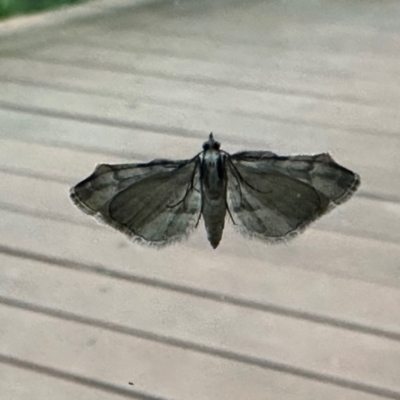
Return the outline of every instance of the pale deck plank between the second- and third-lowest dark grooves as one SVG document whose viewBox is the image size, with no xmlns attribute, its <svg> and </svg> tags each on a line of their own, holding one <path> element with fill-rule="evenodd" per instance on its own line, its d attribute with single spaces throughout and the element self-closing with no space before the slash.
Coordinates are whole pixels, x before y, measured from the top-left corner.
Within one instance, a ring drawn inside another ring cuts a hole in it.
<svg viewBox="0 0 400 400">
<path fill-rule="evenodd" d="M 188 342 L 189 349 L 190 343 L 196 343 L 400 390 L 400 341 L 110 280 L 107 276 L 51 268 L 37 262 L 17 267 L 20 260 L 7 257 L 4 261 L 7 265 L 2 277 L 9 289 L 3 296 L 171 337 Z M 24 290 L 19 292 L 16 288 Z M 391 306 L 394 308 L 395 304 Z M 376 370 L 381 373 L 377 375 Z"/>
</svg>

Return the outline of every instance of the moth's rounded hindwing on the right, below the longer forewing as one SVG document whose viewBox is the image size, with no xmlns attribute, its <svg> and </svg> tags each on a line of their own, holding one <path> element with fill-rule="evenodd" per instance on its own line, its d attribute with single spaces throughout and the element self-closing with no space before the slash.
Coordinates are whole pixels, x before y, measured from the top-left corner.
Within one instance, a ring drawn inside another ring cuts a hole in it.
<svg viewBox="0 0 400 400">
<path fill-rule="evenodd" d="M 229 163 L 228 181 L 236 228 L 265 241 L 291 238 L 329 206 L 329 199 L 312 186 L 234 158 Z"/>
</svg>

